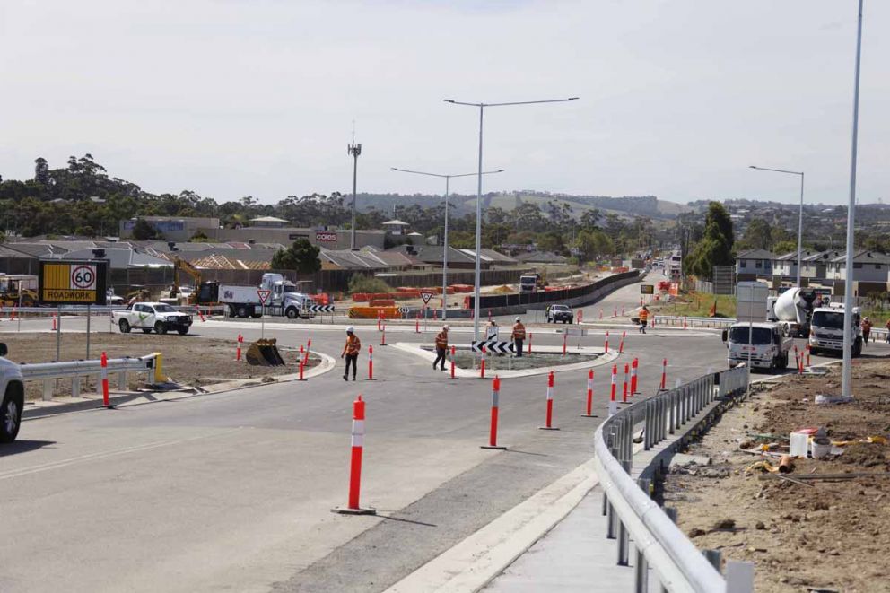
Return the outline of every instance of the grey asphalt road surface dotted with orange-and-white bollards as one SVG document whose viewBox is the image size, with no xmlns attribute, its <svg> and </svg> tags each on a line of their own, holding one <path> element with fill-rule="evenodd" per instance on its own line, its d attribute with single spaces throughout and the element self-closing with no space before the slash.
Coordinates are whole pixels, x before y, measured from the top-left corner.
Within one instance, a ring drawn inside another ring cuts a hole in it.
<svg viewBox="0 0 890 593">
<path fill-rule="evenodd" d="M 585 308 L 585 317 L 638 301 L 634 284 Z M 31 324 L 38 327 L 22 327 Z M 81 324 L 65 320 L 65 331 Z M 14 328 L 4 323 L 0 332 Z M 430 343 L 430 329 L 418 335 L 414 327 L 390 327 L 387 339 Z M 284 345 L 311 337 L 313 350 L 340 362 L 341 327 L 266 323 L 265 331 Z M 552 326 L 531 331 L 535 344 L 562 344 Z M 259 327 L 198 322 L 183 339 L 239 332 L 255 339 Z M 580 342 L 599 345 L 604 332 L 590 328 Z M 376 327 L 358 333 L 366 346 L 380 343 Z M 131 336 L 135 353 L 150 347 L 152 336 Z M 469 339 L 468 327 L 455 327 L 452 342 Z M 664 357 L 669 383 L 725 367 L 713 331 L 631 330 L 625 351 L 619 362 L 640 358 L 644 394 L 658 387 Z M 366 365 L 362 353 L 360 379 Z M 0 589 L 385 589 L 587 461 L 609 384 L 606 367 L 598 367 L 598 418 L 582 418 L 586 372 L 558 373 L 555 424 L 562 430 L 545 432 L 537 430 L 545 376 L 504 379 L 500 440 L 510 449 L 491 451 L 479 448 L 487 440 L 490 381 L 450 381 L 413 354 L 380 345 L 379 380 L 347 383 L 341 368 L 305 383 L 24 423 L 20 440 L 0 448 Z M 367 401 L 362 504 L 378 509 L 377 517 L 330 512 L 345 504 L 359 393 Z"/>
</svg>

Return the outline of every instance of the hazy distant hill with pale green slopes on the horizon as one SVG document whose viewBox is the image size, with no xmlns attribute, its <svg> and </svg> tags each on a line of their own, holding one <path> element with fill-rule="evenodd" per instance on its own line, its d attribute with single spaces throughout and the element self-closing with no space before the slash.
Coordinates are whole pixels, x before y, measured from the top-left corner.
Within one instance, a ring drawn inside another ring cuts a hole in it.
<svg viewBox="0 0 890 593">
<path fill-rule="evenodd" d="M 430 207 L 441 202 L 441 196 L 429 194 L 359 194 L 358 198 L 357 207 L 362 212 L 375 209 L 387 214 L 393 214 L 394 207 L 414 204 Z M 598 208 L 602 214 L 615 213 L 624 218 L 648 216 L 652 219 L 667 220 L 692 210 L 687 205 L 659 200 L 656 196 L 572 196 L 525 190 L 489 193 L 483 196 L 483 200 L 484 207 L 494 206 L 508 212 L 523 202 L 536 204 L 542 210 L 546 210 L 547 202 L 565 203 L 572 207 L 575 217 L 580 217 L 586 210 Z M 476 195 L 451 194 L 449 202 L 456 211 L 455 215 L 476 212 Z"/>
</svg>

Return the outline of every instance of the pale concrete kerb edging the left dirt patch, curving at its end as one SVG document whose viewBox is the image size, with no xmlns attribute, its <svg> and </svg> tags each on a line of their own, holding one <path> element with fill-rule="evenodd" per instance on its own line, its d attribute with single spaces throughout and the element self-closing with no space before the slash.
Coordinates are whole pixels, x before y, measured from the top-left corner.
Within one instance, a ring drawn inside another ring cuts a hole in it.
<svg viewBox="0 0 890 593">
<path fill-rule="evenodd" d="M 336 368 L 336 361 L 333 357 L 318 352 L 314 354 L 317 354 L 318 357 L 321 358 L 321 362 L 317 366 L 303 371 L 304 379 L 318 377 L 328 371 L 333 371 Z M 171 391 L 120 393 L 119 395 L 110 397 L 110 402 L 118 408 L 143 406 L 144 404 L 155 404 L 158 402 L 177 401 L 191 397 L 228 393 L 231 391 L 239 391 L 240 389 L 262 387 L 263 385 L 288 383 L 298 381 L 299 379 L 299 373 L 280 375 L 275 377 L 273 383 L 263 383 L 261 379 L 233 379 L 223 383 L 216 383 L 212 386 L 207 386 L 206 388 L 181 388 Z M 102 398 L 100 395 L 97 395 L 96 397 L 84 397 L 74 402 L 55 402 L 49 403 L 48 406 L 43 405 L 38 407 L 28 407 L 28 402 L 26 402 L 26 407 L 22 411 L 22 420 L 37 420 L 39 418 L 56 416 L 59 414 L 72 414 L 74 412 L 83 412 L 86 410 L 104 409 L 104 406 L 101 406 L 101 402 Z"/>
</svg>

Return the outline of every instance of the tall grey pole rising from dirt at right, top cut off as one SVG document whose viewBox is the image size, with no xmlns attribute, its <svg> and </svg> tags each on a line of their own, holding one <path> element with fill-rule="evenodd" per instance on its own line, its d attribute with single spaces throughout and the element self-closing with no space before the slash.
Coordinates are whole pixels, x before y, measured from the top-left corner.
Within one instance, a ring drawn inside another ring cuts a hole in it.
<svg viewBox="0 0 890 593">
<path fill-rule="evenodd" d="M 856 29 L 856 68 L 853 74 L 853 138 L 850 148 L 850 201 L 847 203 L 847 274 L 843 282 L 843 369 L 841 395 L 851 397 L 853 358 L 853 226 L 856 224 L 856 152 L 859 144 L 859 63 L 862 57 L 862 0 Z"/>
</svg>

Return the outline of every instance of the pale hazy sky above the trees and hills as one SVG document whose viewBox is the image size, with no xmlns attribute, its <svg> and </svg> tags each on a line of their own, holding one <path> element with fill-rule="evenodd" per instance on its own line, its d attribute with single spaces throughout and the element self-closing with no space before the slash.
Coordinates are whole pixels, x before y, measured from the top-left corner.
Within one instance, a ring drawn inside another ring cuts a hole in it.
<svg viewBox="0 0 890 593">
<path fill-rule="evenodd" d="M 439 192 L 401 167 L 476 169 L 485 190 L 842 203 L 854 0 L 0 4 L 0 174 L 92 153 L 153 192 L 218 200 L 351 187 Z M 890 199 L 890 3 L 866 2 L 859 201 Z M 473 179 L 455 191 L 475 190 Z"/>
</svg>

